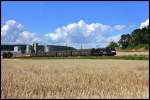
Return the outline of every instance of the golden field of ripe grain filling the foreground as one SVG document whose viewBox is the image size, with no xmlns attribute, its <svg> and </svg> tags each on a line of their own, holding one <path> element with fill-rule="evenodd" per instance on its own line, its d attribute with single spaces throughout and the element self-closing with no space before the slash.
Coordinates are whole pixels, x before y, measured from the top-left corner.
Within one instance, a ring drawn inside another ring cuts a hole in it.
<svg viewBox="0 0 150 100">
<path fill-rule="evenodd" d="M 148 98 L 148 60 L 1 60 L 1 98 Z"/>
</svg>

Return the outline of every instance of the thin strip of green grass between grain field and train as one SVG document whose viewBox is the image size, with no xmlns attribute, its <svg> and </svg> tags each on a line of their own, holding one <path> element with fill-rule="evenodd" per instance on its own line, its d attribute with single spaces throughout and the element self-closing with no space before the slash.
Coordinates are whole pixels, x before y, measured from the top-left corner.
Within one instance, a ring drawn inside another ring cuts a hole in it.
<svg viewBox="0 0 150 100">
<path fill-rule="evenodd" d="M 133 55 L 133 56 L 17 57 L 17 59 L 123 59 L 123 60 L 148 60 L 149 57 L 148 56 L 143 56 L 143 55 Z"/>
</svg>

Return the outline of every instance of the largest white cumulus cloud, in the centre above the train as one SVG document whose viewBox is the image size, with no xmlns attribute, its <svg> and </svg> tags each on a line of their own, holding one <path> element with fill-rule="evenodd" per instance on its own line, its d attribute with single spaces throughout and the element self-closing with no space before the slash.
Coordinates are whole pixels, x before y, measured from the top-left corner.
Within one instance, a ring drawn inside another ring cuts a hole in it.
<svg viewBox="0 0 150 100">
<path fill-rule="evenodd" d="M 121 31 L 125 28 L 125 25 L 105 25 L 101 23 L 86 23 L 80 20 L 77 23 L 68 24 L 57 28 L 54 32 L 45 34 L 47 41 L 70 44 L 85 44 L 95 45 L 95 43 L 108 44 L 110 41 L 118 41 L 120 35 L 111 36 L 112 31 Z"/>
</svg>

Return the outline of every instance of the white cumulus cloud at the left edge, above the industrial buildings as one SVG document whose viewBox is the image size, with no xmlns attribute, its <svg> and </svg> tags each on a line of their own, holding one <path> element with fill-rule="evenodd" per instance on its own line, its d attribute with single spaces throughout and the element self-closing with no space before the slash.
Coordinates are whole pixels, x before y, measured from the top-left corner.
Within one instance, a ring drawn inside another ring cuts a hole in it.
<svg viewBox="0 0 150 100">
<path fill-rule="evenodd" d="M 23 25 L 15 20 L 8 20 L 1 27 L 2 43 L 29 43 L 31 41 L 37 41 L 36 34 L 25 31 Z"/>
</svg>

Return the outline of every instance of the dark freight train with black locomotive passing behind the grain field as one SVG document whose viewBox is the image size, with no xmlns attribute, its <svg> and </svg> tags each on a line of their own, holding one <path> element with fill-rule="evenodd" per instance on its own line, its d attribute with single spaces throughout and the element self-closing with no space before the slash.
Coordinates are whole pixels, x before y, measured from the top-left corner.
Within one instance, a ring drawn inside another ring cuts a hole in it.
<svg viewBox="0 0 150 100">
<path fill-rule="evenodd" d="M 114 56 L 116 50 L 113 48 L 92 48 L 92 49 L 80 49 L 80 50 L 64 50 L 64 51 L 50 51 L 47 53 L 31 56 L 49 56 L 49 57 L 67 57 L 67 56 Z"/>
</svg>

